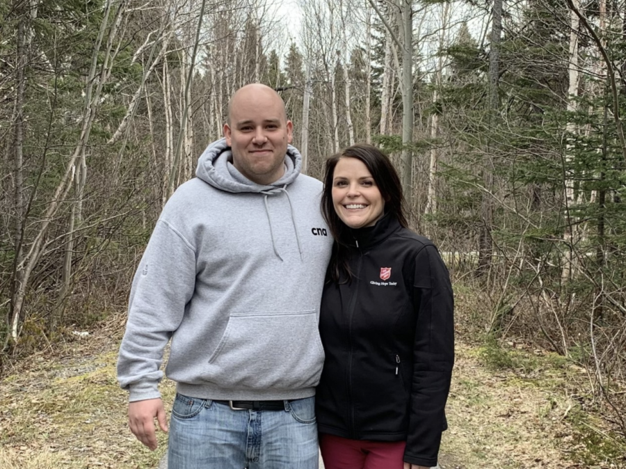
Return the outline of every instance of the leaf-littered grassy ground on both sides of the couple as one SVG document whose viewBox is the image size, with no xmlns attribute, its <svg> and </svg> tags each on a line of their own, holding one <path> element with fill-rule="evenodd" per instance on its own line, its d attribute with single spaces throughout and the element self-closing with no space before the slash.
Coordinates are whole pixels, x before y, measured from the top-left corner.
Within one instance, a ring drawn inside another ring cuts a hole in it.
<svg viewBox="0 0 626 469">
<path fill-rule="evenodd" d="M 166 435 L 156 452 L 135 440 L 115 381 L 123 321 L 8 369 L 0 380 L 0 468 L 157 468 Z M 626 441 L 590 404 L 585 370 L 504 347 L 458 342 L 441 468 L 625 469 Z M 161 390 L 169 405 L 172 383 Z"/>
</svg>

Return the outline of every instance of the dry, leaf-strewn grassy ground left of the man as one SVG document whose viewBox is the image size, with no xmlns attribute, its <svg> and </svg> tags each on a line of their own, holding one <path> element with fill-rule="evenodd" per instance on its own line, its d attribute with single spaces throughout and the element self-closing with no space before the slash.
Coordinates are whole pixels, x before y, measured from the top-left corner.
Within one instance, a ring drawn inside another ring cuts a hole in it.
<svg viewBox="0 0 626 469">
<path fill-rule="evenodd" d="M 115 337 L 121 337 L 115 333 Z M 67 344 L 58 356 L 35 356 L 0 381 L 0 468 L 148 469 L 150 452 L 127 427 L 127 393 L 115 379 L 118 342 L 110 336 Z M 161 385 L 166 406 L 174 386 Z"/>
</svg>

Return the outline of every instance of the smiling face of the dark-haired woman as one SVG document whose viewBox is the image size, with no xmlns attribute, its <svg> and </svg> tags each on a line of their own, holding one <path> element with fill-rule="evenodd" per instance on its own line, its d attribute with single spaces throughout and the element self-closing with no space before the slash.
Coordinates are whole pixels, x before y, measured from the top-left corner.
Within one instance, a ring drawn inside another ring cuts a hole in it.
<svg viewBox="0 0 626 469">
<path fill-rule="evenodd" d="M 374 177 L 360 159 L 342 157 L 332 174 L 332 205 L 350 228 L 373 226 L 385 212 Z"/>
</svg>

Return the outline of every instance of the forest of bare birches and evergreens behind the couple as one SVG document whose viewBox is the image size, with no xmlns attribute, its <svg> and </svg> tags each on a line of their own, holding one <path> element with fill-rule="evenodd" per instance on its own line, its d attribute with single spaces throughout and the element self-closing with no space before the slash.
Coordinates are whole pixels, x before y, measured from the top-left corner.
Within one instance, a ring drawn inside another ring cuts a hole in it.
<svg viewBox="0 0 626 469">
<path fill-rule="evenodd" d="M 389 153 L 460 334 L 584 367 L 580 399 L 626 437 L 624 0 L 0 0 L 0 373 L 125 309 L 255 81 L 305 173 Z"/>
</svg>

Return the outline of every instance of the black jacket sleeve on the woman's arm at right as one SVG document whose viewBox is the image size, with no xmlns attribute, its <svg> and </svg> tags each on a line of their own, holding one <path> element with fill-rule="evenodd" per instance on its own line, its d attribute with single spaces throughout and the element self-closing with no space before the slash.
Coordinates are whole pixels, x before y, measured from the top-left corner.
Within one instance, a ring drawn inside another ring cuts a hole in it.
<svg viewBox="0 0 626 469">
<path fill-rule="evenodd" d="M 454 296 L 437 248 L 426 245 L 415 259 L 417 315 L 409 429 L 404 461 L 436 466 L 454 365 Z"/>
</svg>

